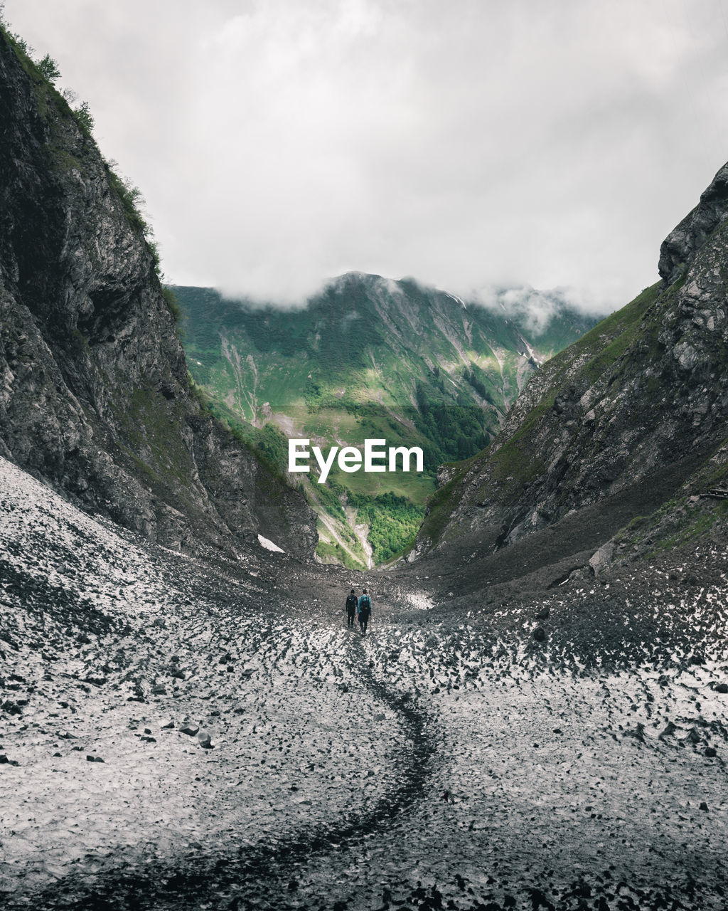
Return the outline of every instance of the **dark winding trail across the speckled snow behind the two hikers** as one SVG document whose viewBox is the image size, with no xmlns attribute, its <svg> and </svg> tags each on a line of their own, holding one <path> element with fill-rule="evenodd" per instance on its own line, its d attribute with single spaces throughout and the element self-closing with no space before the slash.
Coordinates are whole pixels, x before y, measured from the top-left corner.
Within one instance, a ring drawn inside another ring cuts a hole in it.
<svg viewBox="0 0 728 911">
<path fill-rule="evenodd" d="M 67 908 L 74 911 L 126 911 L 126 909 L 191 908 L 204 896 L 214 896 L 212 907 L 239 909 L 269 908 L 293 911 L 305 907 L 331 907 L 334 911 L 356 901 L 351 894 L 328 899 L 325 892 L 297 896 L 298 878 L 305 878 L 312 863 L 339 864 L 346 855 L 366 858 L 370 839 L 376 839 L 393 825 L 405 821 L 410 811 L 426 793 L 428 780 L 438 757 L 438 741 L 429 715 L 420 710 L 409 694 L 399 695 L 377 679 L 369 665 L 363 640 L 349 642 L 356 654 L 359 681 L 363 693 L 357 698 L 370 698 L 394 711 L 405 733 L 399 751 L 389 756 L 398 770 L 397 783 L 385 791 L 376 804 L 364 813 L 352 809 L 350 814 L 332 822 L 304 827 L 278 841 L 261 841 L 253 846 L 233 849 L 229 853 L 191 853 L 168 862 L 155 860 L 143 868 L 128 867 L 84 881 L 83 870 L 66 877 L 53 887 L 34 896 L 34 907 Z M 366 768 L 366 756 L 362 757 Z M 194 901 L 194 904 L 191 902 Z M 310 904 L 309 904 L 310 903 Z"/>
</svg>

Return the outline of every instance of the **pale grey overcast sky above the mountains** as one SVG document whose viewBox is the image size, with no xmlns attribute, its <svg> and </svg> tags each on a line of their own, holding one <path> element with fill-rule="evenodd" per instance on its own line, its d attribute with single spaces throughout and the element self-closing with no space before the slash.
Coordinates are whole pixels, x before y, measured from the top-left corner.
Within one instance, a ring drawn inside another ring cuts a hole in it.
<svg viewBox="0 0 728 911">
<path fill-rule="evenodd" d="M 728 159 L 728 0 L 6 0 L 142 190 L 168 281 L 343 271 L 602 310 Z"/>
</svg>

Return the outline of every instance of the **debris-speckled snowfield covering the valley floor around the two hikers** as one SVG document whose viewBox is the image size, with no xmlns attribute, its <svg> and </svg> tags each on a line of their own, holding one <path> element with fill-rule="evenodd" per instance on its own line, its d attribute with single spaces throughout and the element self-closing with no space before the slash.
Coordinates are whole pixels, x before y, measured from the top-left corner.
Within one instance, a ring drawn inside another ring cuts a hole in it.
<svg viewBox="0 0 728 911">
<path fill-rule="evenodd" d="M 0 905 L 728 905 L 719 548 L 467 615 L 370 573 L 366 638 L 363 581 L 0 459 Z"/>
</svg>

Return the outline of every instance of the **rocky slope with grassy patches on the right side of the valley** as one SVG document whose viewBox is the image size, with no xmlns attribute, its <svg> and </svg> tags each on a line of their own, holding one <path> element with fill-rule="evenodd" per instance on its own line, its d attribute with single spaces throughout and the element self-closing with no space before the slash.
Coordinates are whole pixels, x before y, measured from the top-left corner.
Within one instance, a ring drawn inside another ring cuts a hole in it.
<svg viewBox="0 0 728 911">
<path fill-rule="evenodd" d="M 450 472 L 415 554 L 492 554 L 565 520 L 564 558 L 632 520 L 612 542 L 626 557 L 724 524 L 711 492 L 728 472 L 727 181 L 728 165 L 663 242 L 662 281 L 546 363 L 500 435 Z"/>
</svg>

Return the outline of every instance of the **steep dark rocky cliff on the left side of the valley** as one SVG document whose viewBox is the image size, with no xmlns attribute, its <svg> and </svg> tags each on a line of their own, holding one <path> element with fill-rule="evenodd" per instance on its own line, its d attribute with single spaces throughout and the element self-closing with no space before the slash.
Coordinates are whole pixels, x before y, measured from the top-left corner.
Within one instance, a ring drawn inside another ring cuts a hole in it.
<svg viewBox="0 0 728 911">
<path fill-rule="evenodd" d="M 315 518 L 189 393 L 154 256 L 66 102 L 0 34 L 0 455 L 172 548 Z"/>
</svg>

